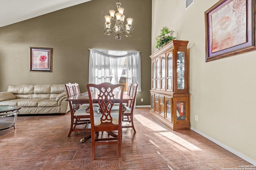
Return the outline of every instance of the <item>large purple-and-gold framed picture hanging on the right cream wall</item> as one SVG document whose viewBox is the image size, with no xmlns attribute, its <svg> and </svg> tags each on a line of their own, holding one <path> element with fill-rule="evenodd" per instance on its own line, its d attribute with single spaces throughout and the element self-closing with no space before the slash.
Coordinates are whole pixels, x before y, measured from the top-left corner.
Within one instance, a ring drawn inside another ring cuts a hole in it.
<svg viewBox="0 0 256 170">
<path fill-rule="evenodd" d="M 206 62 L 256 50 L 255 0 L 220 0 L 206 12 Z"/>
</svg>

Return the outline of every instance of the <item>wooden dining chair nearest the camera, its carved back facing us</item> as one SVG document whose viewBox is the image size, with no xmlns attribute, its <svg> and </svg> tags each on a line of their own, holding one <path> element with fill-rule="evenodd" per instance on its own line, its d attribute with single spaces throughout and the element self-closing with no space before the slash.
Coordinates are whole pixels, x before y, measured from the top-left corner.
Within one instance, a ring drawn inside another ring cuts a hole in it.
<svg viewBox="0 0 256 170">
<path fill-rule="evenodd" d="M 121 156 L 121 140 L 122 140 L 122 104 L 124 94 L 124 84 L 111 84 L 104 82 L 101 84 L 87 84 L 86 85 L 89 94 L 90 104 L 90 120 L 91 120 L 91 135 L 92 135 L 92 160 L 95 158 L 95 146 L 97 145 L 108 145 L 118 144 L 118 157 Z M 114 89 L 121 88 L 120 98 L 116 98 Z M 100 106 L 100 114 L 95 114 L 92 111 L 93 100 L 92 100 L 92 89 L 97 89 L 97 103 Z M 111 109 L 115 103 L 119 103 L 118 113 L 112 113 Z M 111 135 L 104 135 L 99 137 L 99 132 L 117 131 L 117 137 Z M 97 134 L 97 135 L 95 135 Z"/>
</svg>

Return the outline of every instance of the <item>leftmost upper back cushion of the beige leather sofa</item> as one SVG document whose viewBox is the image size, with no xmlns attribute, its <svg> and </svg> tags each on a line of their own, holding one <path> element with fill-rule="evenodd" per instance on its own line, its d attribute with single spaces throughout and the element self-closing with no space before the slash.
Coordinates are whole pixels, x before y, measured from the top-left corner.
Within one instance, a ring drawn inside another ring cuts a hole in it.
<svg viewBox="0 0 256 170">
<path fill-rule="evenodd" d="M 13 94 L 33 94 L 33 90 L 33 85 L 10 85 L 7 92 L 12 92 Z"/>
</svg>

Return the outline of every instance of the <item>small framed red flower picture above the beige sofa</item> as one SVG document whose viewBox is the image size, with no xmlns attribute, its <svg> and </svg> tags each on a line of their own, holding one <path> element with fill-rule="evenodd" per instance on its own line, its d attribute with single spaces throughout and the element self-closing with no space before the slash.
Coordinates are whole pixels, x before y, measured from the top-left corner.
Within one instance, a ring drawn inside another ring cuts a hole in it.
<svg viewBox="0 0 256 170">
<path fill-rule="evenodd" d="M 52 48 L 29 47 L 29 71 L 52 72 Z"/>
</svg>

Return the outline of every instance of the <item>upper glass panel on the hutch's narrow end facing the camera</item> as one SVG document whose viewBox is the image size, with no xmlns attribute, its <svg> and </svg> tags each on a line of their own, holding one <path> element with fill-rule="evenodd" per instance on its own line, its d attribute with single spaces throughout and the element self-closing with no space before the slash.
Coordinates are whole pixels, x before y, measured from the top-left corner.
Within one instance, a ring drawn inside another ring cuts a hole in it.
<svg viewBox="0 0 256 170">
<path fill-rule="evenodd" d="M 184 89 L 184 52 L 178 52 L 177 56 L 177 77 L 178 77 L 178 89 Z"/>
</svg>

